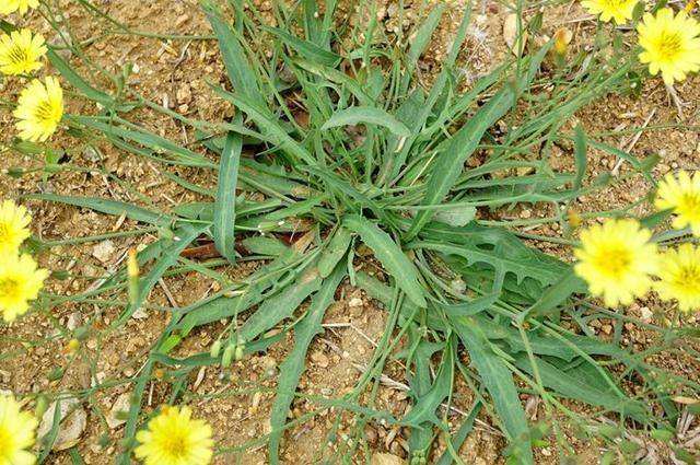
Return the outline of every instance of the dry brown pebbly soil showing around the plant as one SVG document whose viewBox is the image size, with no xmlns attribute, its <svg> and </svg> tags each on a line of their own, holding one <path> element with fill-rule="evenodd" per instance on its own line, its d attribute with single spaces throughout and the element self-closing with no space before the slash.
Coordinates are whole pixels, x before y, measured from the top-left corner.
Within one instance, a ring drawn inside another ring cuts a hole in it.
<svg viewBox="0 0 700 465">
<path fill-rule="evenodd" d="M 124 23 L 128 27 L 158 34 L 195 34 L 206 35 L 211 31 L 195 1 L 162 1 L 149 2 L 136 0 L 96 2 L 101 9 Z M 349 21 L 358 21 L 361 12 L 353 11 L 341 2 L 341 10 L 349 16 Z M 418 3 L 407 4 L 405 27 L 420 19 L 417 18 Z M 429 2 L 430 3 L 430 2 Z M 433 2 L 434 3 L 434 2 Z M 451 43 L 451 33 L 456 28 L 460 18 L 463 1 L 452 1 L 446 10 L 441 30 L 421 62 L 421 69 L 430 74 L 432 69 L 439 69 L 440 59 L 446 53 Z M 231 116 L 232 108 L 225 102 L 218 100 L 208 82 L 224 82 L 225 72 L 219 59 L 219 50 L 213 40 L 162 40 L 145 36 L 116 35 L 103 37 L 95 27 L 93 16 L 85 10 L 68 0 L 60 1 L 65 7 L 61 21 L 66 31 L 70 31 L 73 40 L 89 40 L 85 53 L 107 71 L 119 73 L 126 63 L 132 63 L 129 83 L 147 98 L 172 108 L 183 115 L 195 116 L 209 121 L 222 121 Z M 261 9 L 269 10 L 269 2 L 260 2 Z M 533 14 L 535 11 L 528 11 Z M 545 10 L 544 28 L 553 33 L 558 27 L 567 25 L 574 32 L 572 47 L 582 46 L 586 34 L 595 30 L 595 23 L 587 20 L 587 15 L 578 4 L 567 3 Z M 398 27 L 396 5 L 384 2 L 380 9 L 382 24 L 388 33 Z M 460 63 L 468 77 L 478 77 L 506 54 L 510 54 L 503 39 L 503 21 L 506 16 L 504 7 L 497 2 L 485 1 L 479 4 L 472 18 L 470 36 Z M 158 21 L 154 21 L 158 19 Z M 40 18 L 31 20 L 36 30 L 45 33 L 49 40 L 54 40 L 56 33 L 51 32 Z M 73 57 L 74 58 L 74 57 Z M 107 82 L 103 82 L 107 85 Z M 0 95 L 13 101 L 22 88 L 20 81 L 8 81 L 2 85 Z M 700 77 L 689 79 L 677 86 L 680 98 L 686 103 L 684 117 L 669 101 L 661 80 L 649 80 L 642 91 L 642 97 L 609 96 L 591 105 L 579 114 L 579 120 L 590 135 L 605 131 L 619 132 L 629 127 L 675 124 L 682 121 L 686 129 L 665 128 L 663 130 L 644 131 L 639 139 L 634 135 L 608 136 L 605 140 L 616 147 L 630 148 L 637 155 L 658 154 L 662 162 L 654 174 L 662 176 L 668 171 L 684 167 L 697 170 L 700 166 Z M 70 113 L 90 113 L 93 108 L 78 97 L 68 94 L 68 111 Z M 138 120 L 162 136 L 187 144 L 192 133 L 188 132 L 173 119 L 148 111 L 140 111 Z M 575 121 L 571 121 L 571 127 Z M 86 195 L 112 198 L 117 200 L 137 200 L 139 196 L 148 198 L 151 207 L 164 211 L 184 201 L 201 200 L 195 194 L 184 189 L 175 183 L 164 178 L 160 168 L 148 161 L 118 151 L 102 143 L 100 150 L 89 149 L 78 139 L 62 133 L 54 139 L 55 147 L 66 150 L 65 163 L 79 166 L 81 170 L 65 170 L 51 176 L 43 176 L 40 172 L 32 172 L 42 166 L 43 162 L 30 155 L 21 155 L 7 147 L 11 143 L 13 131 L 10 112 L 0 113 L 0 125 L 7 130 L 0 132 L 3 156 L 0 159 L 0 194 L 2 197 L 15 198 L 27 193 L 58 193 L 66 195 Z M 688 127 L 695 127 L 688 130 Z M 567 128 L 570 129 L 570 128 Z M 571 156 L 567 153 L 555 153 L 553 163 L 571 166 Z M 616 160 L 596 150 L 588 152 L 590 176 L 609 172 Z M 10 176 L 10 170 L 24 168 L 26 174 L 20 178 Z M 205 187 L 215 187 L 215 179 L 207 177 L 206 172 L 176 168 L 176 174 Z M 626 166 L 622 166 L 622 173 Z M 135 190 L 126 188 L 120 179 L 130 183 Z M 604 210 L 621 207 L 644 196 L 649 185 L 640 178 L 620 183 L 605 194 L 581 198 L 581 212 Z M 89 236 L 108 231 L 128 231 L 136 228 L 130 220 L 94 213 L 89 210 L 46 202 L 28 202 L 34 216 L 34 233 L 50 241 L 68 237 Z M 545 210 L 522 208 L 515 213 L 527 219 L 548 214 Z M 532 232 L 559 236 L 561 231 L 557 225 L 542 226 Z M 115 239 L 109 241 L 85 243 L 80 245 L 51 248 L 50 253 L 39 255 L 44 267 L 51 270 L 67 270 L 65 279 L 52 279 L 47 291 L 55 294 L 78 293 L 91 286 L 94 278 L 108 274 L 118 267 L 126 251 L 139 244 L 154 241 L 155 235 Z M 552 246 L 551 251 L 568 254 L 561 247 Z M 256 264 L 243 264 L 235 269 L 228 270 L 231 277 L 242 277 L 249 274 Z M 151 293 L 149 303 L 152 305 L 184 306 L 196 302 L 217 290 L 217 283 L 194 274 L 184 278 L 166 278 Z M 121 425 L 110 426 L 110 410 L 119 399 L 128 399 L 132 384 L 125 383 L 138 376 L 144 361 L 144 353 L 158 339 L 160 332 L 167 324 L 167 316 L 156 309 L 151 309 L 133 318 L 117 332 L 105 330 L 110 322 L 118 316 L 120 306 L 113 307 L 92 305 L 89 303 L 67 303 L 47 312 L 33 313 L 22 318 L 11 327 L 0 328 L 0 388 L 18 394 L 27 392 L 85 392 L 96 383 L 110 387 L 101 388 L 93 395 L 94 403 L 84 405 L 86 411 L 86 428 L 79 442 L 79 451 L 88 464 L 106 464 L 114 461 L 119 450 L 122 435 Z M 651 315 L 648 312 L 651 310 Z M 629 309 L 635 316 L 643 316 L 650 321 L 663 313 L 663 306 L 655 301 L 640 302 Z M 304 396 L 320 396 L 337 398 L 348 393 L 359 379 L 362 367 L 372 356 L 373 346 L 382 336 L 386 313 L 375 302 L 358 289 L 347 286 L 338 302 L 326 314 L 324 324 L 326 332 L 318 337 L 310 350 L 307 371 L 300 384 L 300 392 Z M 687 324 L 693 324 L 691 318 Z M 86 339 L 77 354 L 65 350 L 67 339 L 66 327 L 86 325 L 90 330 Z M 194 332 L 178 348 L 177 356 L 187 356 L 209 349 L 219 332 L 225 327 L 224 322 L 208 325 Z M 594 328 L 603 337 L 607 334 L 606 322 Z M 642 349 L 651 340 L 648 335 L 637 327 L 626 327 L 625 337 L 629 344 Z M 189 382 L 190 390 L 196 396 L 187 402 L 198 416 L 206 419 L 213 427 L 214 439 L 220 446 L 235 447 L 254 441 L 269 431 L 268 416 L 273 398 L 276 373 L 279 364 L 287 354 L 290 340 L 275 345 L 266 354 L 252 356 L 235 362 L 230 369 L 209 367 L 194 372 Z M 678 373 L 698 377 L 700 367 L 693 360 L 664 360 L 668 368 Z M 62 376 L 55 375 L 57 369 L 62 369 Z M 409 407 L 406 393 L 400 387 L 404 383 L 404 368 L 397 362 L 389 363 L 386 370 L 386 382 L 376 398 L 377 408 L 386 408 L 392 414 L 400 416 Z M 167 373 L 161 373 L 167 376 Z M 393 381 L 392 381 L 393 380 Z M 168 393 L 162 387 L 165 384 L 153 381 L 148 387 L 148 399 L 144 411 L 151 411 L 161 403 L 167 402 Z M 464 411 L 468 411 L 472 403 L 472 394 L 464 385 L 455 388 L 455 407 L 459 411 L 451 412 L 454 425 L 458 426 Z M 524 399 L 527 402 L 527 399 Z M 532 403 L 527 404 L 532 407 Z M 580 407 L 583 408 L 583 407 Z M 317 404 L 300 398 L 292 408 L 292 416 L 302 418 L 305 412 L 317 409 Z M 530 410 L 528 410 L 530 411 Z M 532 409 L 537 418 L 537 407 Z M 541 412 L 540 412 L 541 414 Z M 466 464 L 500 464 L 503 463 L 501 451 L 505 441 L 501 433 L 490 426 L 487 416 L 481 415 L 475 432 L 470 434 L 460 450 L 460 456 Z M 318 463 L 324 457 L 332 457 L 338 449 L 348 446 L 347 440 L 351 435 L 353 426 L 348 418 L 338 418 L 332 408 L 328 408 L 311 421 L 302 422 L 285 434 L 281 457 L 285 463 L 311 464 Z M 327 434 L 335 431 L 340 441 L 327 443 Z M 383 456 L 389 462 L 377 464 L 401 463 L 406 457 L 407 434 L 404 430 L 393 430 L 381 423 L 370 423 L 364 433 L 372 453 L 390 454 Z M 594 464 L 599 457 L 598 444 L 591 444 L 578 439 L 573 432 L 567 438 L 579 451 L 575 463 Z M 343 441 L 346 443 L 343 443 Z M 650 445 L 652 446 L 652 445 Z M 661 462 L 670 463 L 663 450 L 657 451 Z M 335 458 L 338 458 L 336 456 Z M 358 457 L 358 461 L 362 460 Z M 537 451 L 537 463 L 560 463 L 555 447 Z M 378 460 L 375 457 L 375 460 Z M 238 462 L 240 461 L 240 462 Z M 390 462 L 396 461 L 396 462 Z M 245 454 L 221 455 L 217 463 L 261 464 L 266 462 L 265 444 L 249 449 Z M 54 453 L 47 463 L 71 463 L 67 452 Z"/>
</svg>

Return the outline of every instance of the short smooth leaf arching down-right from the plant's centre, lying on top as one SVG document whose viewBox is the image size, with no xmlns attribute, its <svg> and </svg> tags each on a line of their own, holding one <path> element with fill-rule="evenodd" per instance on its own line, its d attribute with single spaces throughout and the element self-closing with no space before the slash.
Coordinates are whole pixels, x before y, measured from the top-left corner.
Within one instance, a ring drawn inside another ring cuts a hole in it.
<svg viewBox="0 0 700 465">
<path fill-rule="evenodd" d="M 411 302 L 420 307 L 428 305 L 423 297 L 422 287 L 418 281 L 416 267 L 404 254 L 404 251 L 392 240 L 392 236 L 382 231 L 376 224 L 357 214 L 346 217 L 342 224 L 360 234 L 362 242 L 374 251 L 376 258 L 394 277 L 398 287 L 406 292 Z"/>
</svg>

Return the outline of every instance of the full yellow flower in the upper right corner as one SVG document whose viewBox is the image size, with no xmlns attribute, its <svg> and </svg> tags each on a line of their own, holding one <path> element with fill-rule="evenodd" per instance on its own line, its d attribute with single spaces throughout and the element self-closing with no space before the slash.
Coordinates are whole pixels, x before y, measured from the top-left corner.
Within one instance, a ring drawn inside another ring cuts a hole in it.
<svg viewBox="0 0 700 465">
<path fill-rule="evenodd" d="M 649 63 L 653 75 L 661 71 L 665 83 L 682 81 L 686 73 L 700 69 L 700 23 L 685 11 L 675 18 L 669 8 L 658 10 L 656 16 L 646 13 L 637 32 L 644 49 L 639 60 Z"/>
</svg>

